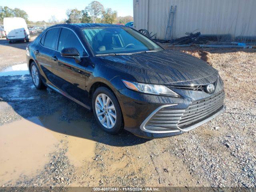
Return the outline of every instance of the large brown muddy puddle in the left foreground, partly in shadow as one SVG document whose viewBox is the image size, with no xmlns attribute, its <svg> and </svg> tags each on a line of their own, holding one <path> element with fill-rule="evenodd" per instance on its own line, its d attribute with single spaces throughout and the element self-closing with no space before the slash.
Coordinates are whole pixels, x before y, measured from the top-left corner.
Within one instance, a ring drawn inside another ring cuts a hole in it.
<svg viewBox="0 0 256 192">
<path fill-rule="evenodd" d="M 80 166 L 94 157 L 90 123 L 64 122 L 61 113 L 22 119 L 0 126 L 0 186 L 20 176 L 40 174 L 58 148 L 68 148 L 70 164 Z"/>
</svg>

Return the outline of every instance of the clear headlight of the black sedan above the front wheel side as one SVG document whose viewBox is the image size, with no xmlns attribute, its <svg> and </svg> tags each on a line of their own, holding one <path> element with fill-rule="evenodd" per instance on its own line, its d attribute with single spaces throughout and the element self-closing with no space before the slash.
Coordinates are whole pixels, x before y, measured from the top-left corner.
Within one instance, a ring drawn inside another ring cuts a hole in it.
<svg viewBox="0 0 256 192">
<path fill-rule="evenodd" d="M 128 89 L 141 92 L 141 93 L 148 93 L 148 94 L 154 94 L 154 95 L 166 95 L 166 96 L 172 96 L 172 97 L 179 96 L 176 92 L 170 90 L 164 85 L 136 83 L 136 82 L 129 82 L 126 80 L 122 80 L 122 82 Z"/>
</svg>

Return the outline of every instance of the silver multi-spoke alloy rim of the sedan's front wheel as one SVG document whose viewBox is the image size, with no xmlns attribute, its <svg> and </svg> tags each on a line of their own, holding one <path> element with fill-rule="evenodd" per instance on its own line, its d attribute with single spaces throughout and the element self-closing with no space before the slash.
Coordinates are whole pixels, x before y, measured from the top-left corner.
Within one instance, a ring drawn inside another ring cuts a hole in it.
<svg viewBox="0 0 256 192">
<path fill-rule="evenodd" d="M 96 115 L 100 123 L 107 129 L 116 124 L 116 108 L 112 100 L 106 94 L 99 94 L 95 100 Z"/>
</svg>

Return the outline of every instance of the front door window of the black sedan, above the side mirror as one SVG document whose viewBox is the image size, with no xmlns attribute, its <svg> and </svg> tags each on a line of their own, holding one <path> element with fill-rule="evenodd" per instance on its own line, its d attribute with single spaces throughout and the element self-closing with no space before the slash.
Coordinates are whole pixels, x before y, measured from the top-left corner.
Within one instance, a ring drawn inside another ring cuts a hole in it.
<svg viewBox="0 0 256 192">
<path fill-rule="evenodd" d="M 58 51 L 61 51 L 64 48 L 72 47 L 78 50 L 80 56 L 87 56 L 82 44 L 80 43 L 74 32 L 69 29 L 62 28 L 58 43 Z"/>
</svg>

